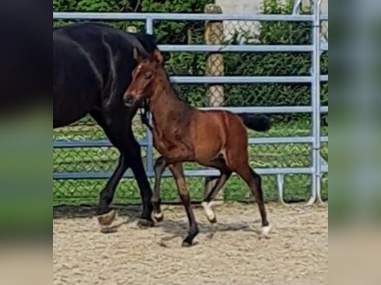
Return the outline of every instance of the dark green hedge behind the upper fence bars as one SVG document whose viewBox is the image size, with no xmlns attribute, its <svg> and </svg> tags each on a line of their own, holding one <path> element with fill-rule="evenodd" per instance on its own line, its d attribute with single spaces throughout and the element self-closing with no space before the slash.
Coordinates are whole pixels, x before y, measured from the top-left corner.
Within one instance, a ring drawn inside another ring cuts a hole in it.
<svg viewBox="0 0 381 285">
<path fill-rule="evenodd" d="M 53 0 L 55 11 L 108 12 L 202 12 L 213 0 Z M 290 14 L 292 0 L 264 0 L 266 14 Z M 308 8 L 302 13 L 310 13 Z M 56 25 L 64 24 L 63 21 Z M 135 25 L 144 31 L 142 21 L 112 22 L 121 29 Z M 203 44 L 203 22 L 156 21 L 154 33 L 159 44 Z M 310 22 L 262 22 L 258 35 L 241 34 L 247 42 L 253 38 L 266 45 L 308 45 L 311 43 Z M 237 44 L 238 34 L 226 44 Z M 171 75 L 203 75 L 204 53 L 166 53 L 166 69 Z M 310 53 L 224 53 L 225 75 L 309 75 Z M 321 57 L 321 72 L 328 72 L 328 54 Z M 205 106 L 206 85 L 178 85 L 179 95 L 194 106 Z M 225 105 L 230 106 L 293 106 L 309 105 L 310 85 L 303 84 L 229 84 L 225 85 Z M 328 103 L 327 84 L 321 84 L 321 99 Z M 277 121 L 308 118 L 308 114 L 273 115 Z"/>
</svg>

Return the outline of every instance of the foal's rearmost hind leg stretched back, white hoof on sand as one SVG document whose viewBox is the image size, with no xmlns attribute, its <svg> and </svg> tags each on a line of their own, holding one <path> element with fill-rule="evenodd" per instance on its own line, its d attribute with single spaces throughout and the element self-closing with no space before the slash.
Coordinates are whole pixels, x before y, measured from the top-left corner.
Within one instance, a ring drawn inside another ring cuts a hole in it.
<svg viewBox="0 0 381 285">
<path fill-rule="evenodd" d="M 270 223 L 267 220 L 265 203 L 263 200 L 262 179 L 249 164 L 241 164 L 234 171 L 247 183 L 253 193 L 259 207 L 259 212 L 262 218 L 262 233 L 268 235 L 270 231 Z"/>
</svg>

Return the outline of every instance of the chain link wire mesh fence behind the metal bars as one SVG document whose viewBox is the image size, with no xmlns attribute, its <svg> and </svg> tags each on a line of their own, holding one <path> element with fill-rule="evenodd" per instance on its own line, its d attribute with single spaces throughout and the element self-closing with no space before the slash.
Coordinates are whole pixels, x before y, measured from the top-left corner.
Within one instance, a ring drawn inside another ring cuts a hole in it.
<svg viewBox="0 0 381 285">
<path fill-rule="evenodd" d="M 287 10 L 273 11 L 286 13 Z M 289 11 L 290 12 L 290 11 Z M 310 13 L 304 10 L 302 13 Z M 68 21 L 55 21 L 65 25 Z M 126 30 L 134 26 L 145 32 L 144 21 L 109 23 Z M 223 46 L 262 45 L 311 45 L 311 22 L 254 22 L 254 21 L 155 21 L 154 35 L 159 45 Z M 210 76 L 310 76 L 310 52 L 163 52 L 165 68 L 170 75 Z M 328 52 L 321 55 L 321 73 L 328 72 Z M 255 84 L 174 84 L 180 98 L 196 107 L 206 106 L 310 106 L 310 83 L 255 83 Z M 321 83 L 322 105 L 328 103 L 327 82 Z M 310 113 L 266 114 L 273 127 L 268 133 L 249 131 L 250 138 L 311 136 Z M 146 129 L 137 115 L 133 130 L 138 140 L 146 139 Z M 321 120 L 321 136 L 328 136 L 326 115 Z M 68 127 L 53 131 L 54 141 L 104 141 L 107 140 L 95 121 L 86 117 Z M 253 168 L 310 167 L 311 143 L 264 143 L 249 146 L 250 164 Z M 322 158 L 328 161 L 328 145 L 322 144 Z M 53 149 L 53 172 L 111 172 L 115 169 L 118 151 L 112 146 L 71 147 Z M 142 157 L 147 167 L 146 148 Z M 154 159 L 158 153 L 154 151 Z M 203 169 L 187 163 L 186 170 Z M 106 179 L 72 179 L 53 181 L 54 205 L 96 204 Z M 154 180 L 150 178 L 153 186 Z M 164 178 L 161 184 L 164 202 L 178 202 L 176 186 L 172 178 Z M 187 185 L 193 201 L 200 201 L 204 193 L 204 179 L 187 177 Z M 310 192 L 309 174 L 291 174 L 285 177 L 285 200 L 306 200 Z M 267 201 L 278 199 L 277 176 L 264 176 L 263 188 Z M 322 177 L 322 195 L 328 197 L 328 176 Z M 232 177 L 223 189 L 225 201 L 251 201 L 247 186 Z M 134 179 L 122 179 L 115 194 L 115 203 L 140 203 L 139 190 Z"/>
</svg>

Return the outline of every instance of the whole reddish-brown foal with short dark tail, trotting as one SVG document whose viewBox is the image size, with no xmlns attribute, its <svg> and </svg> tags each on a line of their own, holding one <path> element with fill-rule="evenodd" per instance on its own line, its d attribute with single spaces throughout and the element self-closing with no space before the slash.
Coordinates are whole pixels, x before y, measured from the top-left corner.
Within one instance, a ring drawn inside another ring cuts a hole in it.
<svg viewBox="0 0 381 285">
<path fill-rule="evenodd" d="M 210 222 L 216 222 L 211 202 L 228 180 L 232 172 L 237 173 L 250 187 L 262 217 L 262 233 L 268 235 L 261 177 L 249 166 L 248 135 L 246 127 L 266 131 L 268 119 L 242 115 L 240 118 L 227 111 L 201 111 L 179 100 L 163 68 L 163 57 L 155 50 L 152 58 L 143 59 L 134 50 L 138 65 L 132 71 L 132 82 L 124 93 L 128 107 L 146 101 L 152 112 L 153 143 L 160 152 L 155 163 L 155 188 L 153 193 L 154 214 L 162 218 L 160 210 L 160 178 L 168 166 L 176 180 L 179 195 L 186 209 L 190 230 L 183 246 L 190 246 L 198 233 L 191 199 L 186 186 L 183 162 L 197 162 L 203 166 L 220 170 L 216 185 L 206 193 L 202 206 Z"/>
</svg>

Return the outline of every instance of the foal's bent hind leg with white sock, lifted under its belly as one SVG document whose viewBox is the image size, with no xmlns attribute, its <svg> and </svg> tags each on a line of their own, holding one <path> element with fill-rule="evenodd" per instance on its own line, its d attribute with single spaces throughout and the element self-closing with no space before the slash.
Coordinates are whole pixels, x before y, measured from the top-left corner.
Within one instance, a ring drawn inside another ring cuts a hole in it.
<svg viewBox="0 0 381 285">
<path fill-rule="evenodd" d="M 208 193 L 205 193 L 204 200 L 201 203 L 202 207 L 204 208 L 207 219 L 211 223 L 215 223 L 217 221 L 217 218 L 211 208 L 212 200 L 217 196 L 218 192 L 225 185 L 232 172 L 226 165 L 225 159 L 222 157 L 212 159 L 208 163 L 205 163 L 205 165 L 217 168 L 221 171 L 221 175 L 217 178 L 216 184 Z"/>
</svg>

